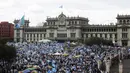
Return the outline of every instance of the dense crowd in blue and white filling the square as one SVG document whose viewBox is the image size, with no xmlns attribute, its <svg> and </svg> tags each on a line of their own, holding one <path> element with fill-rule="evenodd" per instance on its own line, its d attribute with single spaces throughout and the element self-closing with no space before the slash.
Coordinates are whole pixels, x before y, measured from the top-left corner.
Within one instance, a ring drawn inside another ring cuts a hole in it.
<svg viewBox="0 0 130 73">
<path fill-rule="evenodd" d="M 101 73 L 100 64 L 118 54 L 117 47 L 86 46 L 70 43 L 14 43 L 17 57 L 12 64 L 16 73 Z"/>
</svg>

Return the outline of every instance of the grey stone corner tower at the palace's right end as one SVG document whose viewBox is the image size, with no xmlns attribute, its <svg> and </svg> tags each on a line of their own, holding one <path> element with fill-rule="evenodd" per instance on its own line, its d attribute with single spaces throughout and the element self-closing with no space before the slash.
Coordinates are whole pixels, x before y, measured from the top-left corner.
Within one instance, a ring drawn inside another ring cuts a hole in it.
<svg viewBox="0 0 130 73">
<path fill-rule="evenodd" d="M 117 15 L 117 42 L 120 46 L 130 46 L 130 15 Z"/>
</svg>

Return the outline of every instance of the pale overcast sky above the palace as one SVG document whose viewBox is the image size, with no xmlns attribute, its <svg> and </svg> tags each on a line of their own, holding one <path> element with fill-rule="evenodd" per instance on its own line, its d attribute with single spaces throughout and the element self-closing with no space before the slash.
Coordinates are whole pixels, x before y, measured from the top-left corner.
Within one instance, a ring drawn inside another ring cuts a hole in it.
<svg viewBox="0 0 130 73">
<path fill-rule="evenodd" d="M 90 24 L 115 23 L 117 14 L 130 14 L 130 0 L 0 0 L 0 21 L 13 23 L 25 14 L 31 26 L 45 22 L 47 16 L 82 16 Z M 63 8 L 59 8 L 60 6 Z"/>
</svg>

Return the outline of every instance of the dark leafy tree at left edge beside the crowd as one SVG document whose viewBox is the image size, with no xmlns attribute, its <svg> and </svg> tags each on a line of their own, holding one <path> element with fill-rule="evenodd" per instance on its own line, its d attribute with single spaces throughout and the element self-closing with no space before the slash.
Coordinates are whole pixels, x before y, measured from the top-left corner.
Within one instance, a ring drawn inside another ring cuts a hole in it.
<svg viewBox="0 0 130 73">
<path fill-rule="evenodd" d="M 12 62 L 16 57 L 16 49 L 15 47 L 6 45 L 6 41 L 7 40 L 0 39 L 0 61 L 3 63 L 2 67 L 4 66 L 8 69 L 11 67 Z M 5 62 L 8 64 L 5 64 Z"/>
</svg>

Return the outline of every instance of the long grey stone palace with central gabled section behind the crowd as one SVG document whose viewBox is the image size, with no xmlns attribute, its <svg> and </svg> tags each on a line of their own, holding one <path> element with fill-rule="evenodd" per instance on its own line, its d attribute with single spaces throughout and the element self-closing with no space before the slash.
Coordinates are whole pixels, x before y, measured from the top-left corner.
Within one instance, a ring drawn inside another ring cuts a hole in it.
<svg viewBox="0 0 130 73">
<path fill-rule="evenodd" d="M 130 15 L 117 15 L 115 24 L 89 24 L 85 17 L 67 17 L 61 13 L 58 17 L 47 18 L 43 27 L 30 27 L 25 20 L 23 27 L 14 28 L 14 41 L 36 42 L 42 39 L 57 41 L 85 40 L 89 37 L 102 37 L 112 40 L 120 46 L 130 46 Z M 17 24 L 19 20 L 14 20 Z"/>
</svg>

